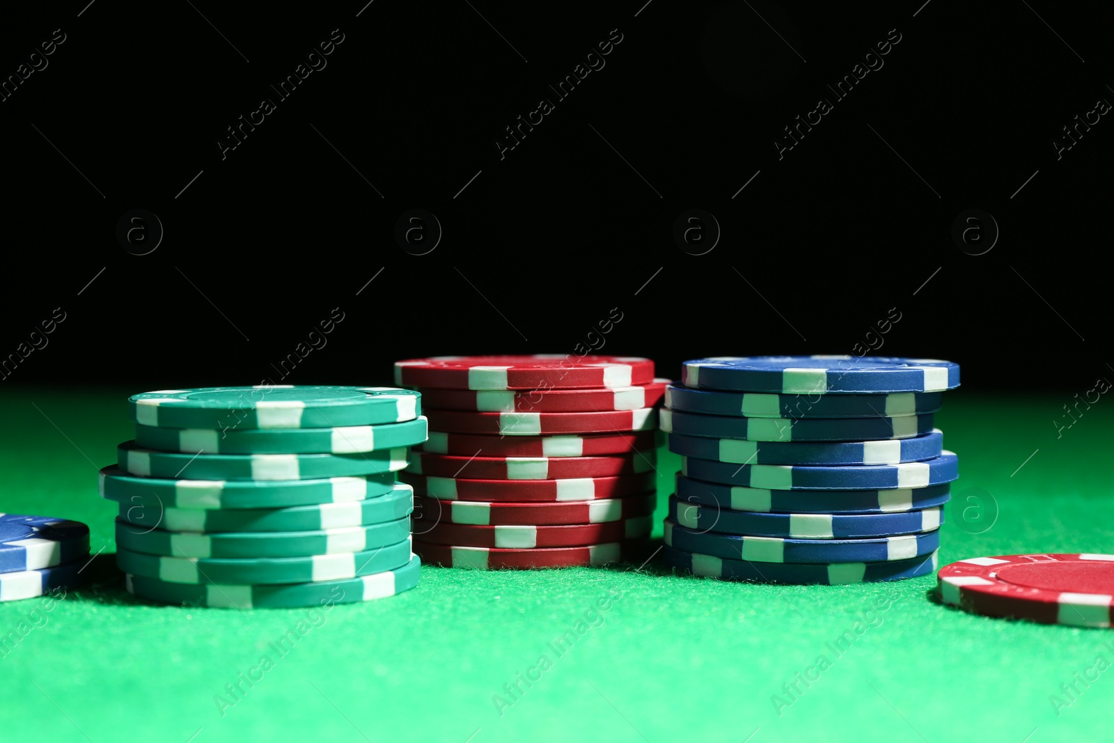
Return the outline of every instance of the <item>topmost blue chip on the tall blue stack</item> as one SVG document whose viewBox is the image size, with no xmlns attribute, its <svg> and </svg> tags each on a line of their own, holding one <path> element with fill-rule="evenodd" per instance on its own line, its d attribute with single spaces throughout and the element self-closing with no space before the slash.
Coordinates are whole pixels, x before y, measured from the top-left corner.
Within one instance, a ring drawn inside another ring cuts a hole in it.
<svg viewBox="0 0 1114 743">
<path fill-rule="evenodd" d="M 959 387 L 959 364 L 882 356 L 720 356 L 686 361 L 681 382 L 780 394 L 941 392 Z"/>
</svg>

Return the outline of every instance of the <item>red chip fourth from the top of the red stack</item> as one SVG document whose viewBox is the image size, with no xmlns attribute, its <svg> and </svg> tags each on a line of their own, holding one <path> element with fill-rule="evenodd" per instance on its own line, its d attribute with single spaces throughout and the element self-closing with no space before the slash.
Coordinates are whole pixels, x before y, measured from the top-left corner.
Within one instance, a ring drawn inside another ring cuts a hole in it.
<svg viewBox="0 0 1114 743">
<path fill-rule="evenodd" d="M 487 436 L 430 431 L 421 451 L 463 457 L 599 457 L 657 449 L 658 431 L 598 436 Z"/>
</svg>

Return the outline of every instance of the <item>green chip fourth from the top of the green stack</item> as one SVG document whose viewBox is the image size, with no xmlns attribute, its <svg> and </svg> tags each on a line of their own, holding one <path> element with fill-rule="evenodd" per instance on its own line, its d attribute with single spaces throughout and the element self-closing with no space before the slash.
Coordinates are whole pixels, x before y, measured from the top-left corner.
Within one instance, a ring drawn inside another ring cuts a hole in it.
<svg viewBox="0 0 1114 743">
<path fill-rule="evenodd" d="M 394 472 L 316 480 L 175 480 L 135 477 L 106 467 L 98 477 L 100 497 L 140 510 L 284 508 L 351 504 L 378 498 L 394 488 Z M 130 520 L 130 519 L 129 519 Z"/>
</svg>

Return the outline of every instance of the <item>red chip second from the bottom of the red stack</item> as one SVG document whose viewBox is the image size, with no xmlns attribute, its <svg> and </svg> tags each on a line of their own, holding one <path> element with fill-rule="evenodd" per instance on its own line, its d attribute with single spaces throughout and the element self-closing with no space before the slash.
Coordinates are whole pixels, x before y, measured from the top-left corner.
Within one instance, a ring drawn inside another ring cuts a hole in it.
<svg viewBox="0 0 1114 743">
<path fill-rule="evenodd" d="M 609 541 L 644 539 L 654 528 L 653 518 L 639 516 L 607 524 L 566 526 L 475 526 L 471 524 L 413 522 L 413 536 L 424 542 L 457 547 L 536 549 L 590 547 Z"/>
</svg>

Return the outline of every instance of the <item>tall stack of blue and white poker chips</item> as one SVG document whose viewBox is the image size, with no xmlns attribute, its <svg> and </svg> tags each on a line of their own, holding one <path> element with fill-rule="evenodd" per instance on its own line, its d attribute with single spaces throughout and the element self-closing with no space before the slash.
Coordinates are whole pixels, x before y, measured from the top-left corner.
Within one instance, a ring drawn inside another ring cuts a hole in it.
<svg viewBox="0 0 1114 743">
<path fill-rule="evenodd" d="M 685 362 L 662 411 L 682 461 L 665 561 L 763 583 L 932 573 L 959 476 L 932 413 L 958 384 L 957 364 L 930 359 Z"/>
</svg>

